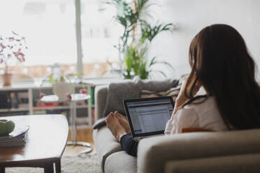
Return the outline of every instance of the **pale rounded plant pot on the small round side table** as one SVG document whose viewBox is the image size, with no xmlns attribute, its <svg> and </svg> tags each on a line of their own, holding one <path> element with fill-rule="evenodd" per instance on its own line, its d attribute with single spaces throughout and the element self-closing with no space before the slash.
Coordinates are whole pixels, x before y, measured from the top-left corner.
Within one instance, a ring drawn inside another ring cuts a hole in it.
<svg viewBox="0 0 260 173">
<path fill-rule="evenodd" d="M 68 100 L 67 94 L 71 93 L 72 86 L 67 82 L 59 82 L 53 85 L 53 93 L 58 96 L 59 100 Z"/>
</svg>

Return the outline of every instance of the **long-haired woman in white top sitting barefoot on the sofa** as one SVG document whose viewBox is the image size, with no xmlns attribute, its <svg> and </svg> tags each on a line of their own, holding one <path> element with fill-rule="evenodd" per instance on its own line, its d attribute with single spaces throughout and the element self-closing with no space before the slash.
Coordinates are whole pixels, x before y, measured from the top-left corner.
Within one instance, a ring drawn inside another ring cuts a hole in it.
<svg viewBox="0 0 260 173">
<path fill-rule="evenodd" d="M 182 128 L 243 130 L 260 128 L 260 89 L 255 64 L 240 33 L 226 24 L 202 29 L 189 47 L 192 71 L 182 84 L 165 133 Z M 205 96 L 195 96 L 203 87 Z M 117 112 L 107 116 L 107 126 L 122 145 L 136 156 L 138 142 L 129 135 L 129 124 Z"/>
</svg>

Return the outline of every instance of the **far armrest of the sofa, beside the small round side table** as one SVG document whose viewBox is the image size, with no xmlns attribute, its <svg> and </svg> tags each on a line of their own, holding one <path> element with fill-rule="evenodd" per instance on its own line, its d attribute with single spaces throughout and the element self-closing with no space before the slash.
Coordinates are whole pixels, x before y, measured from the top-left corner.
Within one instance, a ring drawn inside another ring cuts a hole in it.
<svg viewBox="0 0 260 173">
<path fill-rule="evenodd" d="M 100 85 L 95 88 L 95 121 L 103 117 L 103 111 L 106 107 L 106 96 L 108 95 L 108 86 Z"/>
</svg>

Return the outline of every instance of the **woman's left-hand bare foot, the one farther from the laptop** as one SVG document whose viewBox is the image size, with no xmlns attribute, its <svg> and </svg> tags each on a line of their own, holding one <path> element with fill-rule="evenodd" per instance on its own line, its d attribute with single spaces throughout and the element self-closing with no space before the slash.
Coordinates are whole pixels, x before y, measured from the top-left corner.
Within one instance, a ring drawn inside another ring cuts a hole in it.
<svg viewBox="0 0 260 173">
<path fill-rule="evenodd" d="M 117 117 L 115 117 L 113 112 L 110 112 L 108 116 L 106 116 L 106 126 L 109 128 L 110 132 L 115 136 L 117 142 L 120 142 L 120 139 L 123 135 L 126 135 L 127 132 L 121 126 Z"/>
</svg>

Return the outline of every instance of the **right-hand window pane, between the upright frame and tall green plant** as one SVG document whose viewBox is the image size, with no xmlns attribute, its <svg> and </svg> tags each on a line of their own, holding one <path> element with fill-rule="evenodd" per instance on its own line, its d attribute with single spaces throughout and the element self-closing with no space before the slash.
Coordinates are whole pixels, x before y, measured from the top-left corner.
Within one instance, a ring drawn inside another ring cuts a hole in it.
<svg viewBox="0 0 260 173">
<path fill-rule="evenodd" d="M 81 11 L 83 73 L 89 77 L 111 76 L 118 68 L 119 57 L 113 45 L 123 31 L 113 20 L 115 9 L 100 0 L 82 0 Z"/>
</svg>

